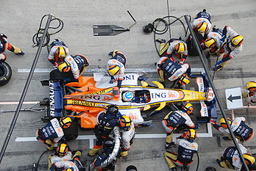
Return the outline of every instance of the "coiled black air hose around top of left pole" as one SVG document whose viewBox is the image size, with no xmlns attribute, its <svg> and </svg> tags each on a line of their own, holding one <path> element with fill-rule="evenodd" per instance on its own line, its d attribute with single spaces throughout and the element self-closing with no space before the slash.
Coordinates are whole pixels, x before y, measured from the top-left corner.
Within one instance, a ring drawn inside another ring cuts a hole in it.
<svg viewBox="0 0 256 171">
<path fill-rule="evenodd" d="M 40 44 L 40 40 L 42 38 L 42 35 L 43 35 L 43 31 L 44 31 L 44 28 L 41 28 L 42 26 L 42 23 L 43 23 L 43 20 L 47 17 L 48 15 L 43 15 L 43 18 L 41 18 L 41 21 L 40 21 L 40 26 L 39 26 L 39 29 L 38 29 L 38 32 L 36 34 L 34 34 L 33 38 L 32 38 L 32 41 L 34 43 L 33 47 L 35 46 L 39 46 Z M 47 18 L 46 18 L 47 19 Z M 45 43 L 43 43 L 43 46 L 47 46 L 50 42 L 50 36 L 53 35 L 53 34 L 57 34 L 58 32 L 60 32 L 62 29 L 63 29 L 63 26 L 64 26 L 64 23 L 63 21 L 60 20 L 60 18 L 53 18 L 51 19 L 51 22 L 55 21 L 55 24 L 56 26 L 49 26 L 49 29 L 54 29 L 57 31 L 56 32 L 47 32 L 46 33 L 46 40 L 45 40 Z"/>
</svg>

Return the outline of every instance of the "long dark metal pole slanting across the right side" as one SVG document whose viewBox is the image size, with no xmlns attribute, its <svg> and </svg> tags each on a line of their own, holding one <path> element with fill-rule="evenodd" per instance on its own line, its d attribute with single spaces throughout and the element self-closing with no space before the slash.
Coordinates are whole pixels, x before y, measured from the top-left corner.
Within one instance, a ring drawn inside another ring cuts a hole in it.
<svg viewBox="0 0 256 171">
<path fill-rule="evenodd" d="M 213 92 L 214 92 L 214 95 L 215 95 L 215 97 L 216 97 L 216 101 L 217 101 L 217 103 L 218 103 L 219 109 L 221 110 L 221 114 L 222 114 L 222 116 L 224 117 L 224 120 L 225 120 L 226 123 L 227 123 L 227 128 L 228 128 L 229 131 L 230 131 L 230 134 L 231 134 L 232 140 L 233 140 L 233 142 L 234 142 L 234 144 L 235 144 L 235 147 L 238 149 L 238 153 L 239 153 L 240 159 L 241 159 L 241 161 L 242 161 L 242 163 L 243 163 L 243 167 L 245 167 L 246 170 L 249 171 L 249 169 L 248 169 L 248 167 L 247 167 L 247 165 L 246 165 L 246 162 L 245 162 L 244 159 L 243 159 L 243 154 L 242 154 L 242 152 L 241 152 L 241 150 L 240 150 L 240 148 L 239 148 L 238 142 L 236 142 L 236 140 L 235 140 L 235 135 L 234 135 L 234 133 L 232 132 L 231 127 L 230 127 L 230 124 L 229 124 L 229 122 L 228 122 L 228 120 L 227 120 L 227 116 L 226 116 L 226 114 L 225 114 L 225 112 L 224 112 L 224 108 L 223 108 L 223 106 L 222 106 L 222 104 L 221 104 L 220 98 L 218 97 L 217 90 L 216 90 L 216 88 L 215 88 L 215 86 L 214 86 L 214 84 L 213 84 L 212 79 L 210 78 L 210 73 L 209 73 L 209 71 L 208 71 L 207 68 L 206 68 L 207 65 L 206 65 L 205 60 L 204 60 L 204 59 L 205 59 L 205 54 L 202 54 L 201 48 L 200 48 L 200 46 L 199 46 L 199 43 L 198 43 L 198 41 L 196 41 L 197 38 L 196 38 L 195 34 L 193 33 L 193 29 L 192 29 L 192 27 L 191 27 L 191 23 L 189 23 L 189 21 L 188 21 L 188 15 L 184 15 L 184 17 L 185 17 L 186 23 L 188 24 L 188 29 L 189 29 L 189 31 L 191 32 L 193 41 L 194 41 L 195 44 L 196 44 L 196 49 L 197 49 L 197 51 L 198 51 L 198 53 L 199 53 L 199 57 L 200 57 L 200 60 L 201 60 L 201 62 L 202 62 L 202 65 L 203 65 L 203 67 L 205 68 L 205 73 L 206 73 L 207 79 L 209 80 L 210 86 L 213 88 Z"/>
</svg>

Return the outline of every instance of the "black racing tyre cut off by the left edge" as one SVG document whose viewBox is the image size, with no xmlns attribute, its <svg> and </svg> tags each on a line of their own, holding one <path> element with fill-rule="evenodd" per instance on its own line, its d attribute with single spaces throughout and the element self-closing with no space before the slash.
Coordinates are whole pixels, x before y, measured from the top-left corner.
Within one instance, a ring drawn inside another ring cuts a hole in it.
<svg viewBox="0 0 256 171">
<path fill-rule="evenodd" d="M 0 61 L 0 86 L 7 84 L 12 76 L 12 68 L 7 62 Z"/>
</svg>

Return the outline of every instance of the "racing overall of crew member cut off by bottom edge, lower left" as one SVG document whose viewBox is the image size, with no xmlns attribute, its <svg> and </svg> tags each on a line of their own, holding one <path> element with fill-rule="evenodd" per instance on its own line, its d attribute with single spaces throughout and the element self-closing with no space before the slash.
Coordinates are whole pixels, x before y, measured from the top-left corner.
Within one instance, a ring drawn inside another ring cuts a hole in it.
<svg viewBox="0 0 256 171">
<path fill-rule="evenodd" d="M 80 171 L 82 170 L 82 164 L 79 161 L 80 156 L 81 156 L 81 152 L 77 151 L 74 154 L 72 160 L 68 160 L 68 161 L 62 160 L 62 161 L 54 162 L 53 164 L 51 164 L 49 171 L 54 171 L 59 168 L 63 168 L 64 170 L 71 169 L 73 171 Z"/>
</svg>

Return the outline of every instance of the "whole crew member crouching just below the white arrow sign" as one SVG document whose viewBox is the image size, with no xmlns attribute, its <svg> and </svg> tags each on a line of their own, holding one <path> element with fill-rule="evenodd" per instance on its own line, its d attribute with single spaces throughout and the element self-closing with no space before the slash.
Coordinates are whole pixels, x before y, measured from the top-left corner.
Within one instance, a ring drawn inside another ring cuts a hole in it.
<svg viewBox="0 0 256 171">
<path fill-rule="evenodd" d="M 246 119 L 244 117 L 235 117 L 234 120 L 230 120 L 229 117 L 227 117 L 228 122 L 231 126 L 231 130 L 235 134 L 235 137 L 238 138 L 241 142 L 248 141 L 249 139 L 252 139 L 254 130 L 253 128 L 249 127 L 249 125 L 246 125 L 245 121 Z M 221 118 L 219 120 L 220 125 L 218 125 L 216 122 L 214 122 L 213 119 L 210 120 L 210 123 L 212 123 L 213 127 L 216 128 L 218 131 L 228 134 L 227 137 L 223 137 L 225 140 L 232 139 L 230 135 L 230 131 L 227 128 L 227 123 L 225 122 L 224 118 Z"/>
</svg>

